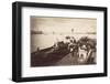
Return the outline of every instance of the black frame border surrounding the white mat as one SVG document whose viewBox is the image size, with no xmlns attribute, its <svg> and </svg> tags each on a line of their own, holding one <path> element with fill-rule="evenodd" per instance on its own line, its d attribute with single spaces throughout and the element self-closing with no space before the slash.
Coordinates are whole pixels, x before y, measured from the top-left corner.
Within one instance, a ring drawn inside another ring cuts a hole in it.
<svg viewBox="0 0 110 84">
<path fill-rule="evenodd" d="M 68 9 L 68 10 L 90 10 L 103 11 L 103 73 L 91 74 L 69 74 L 69 75 L 54 75 L 54 76 L 38 76 L 38 77 L 22 77 L 22 8 L 50 8 L 50 9 Z M 81 78 L 81 77 L 99 77 L 107 76 L 107 55 L 108 55 L 108 35 L 107 35 L 107 19 L 108 12 L 106 7 L 89 7 L 89 6 L 70 6 L 70 4 L 54 4 L 54 3 L 34 3 L 34 2 L 13 2 L 12 3 L 12 81 L 14 82 L 31 82 L 31 81 L 48 81 L 48 80 L 66 80 L 66 78 Z"/>
</svg>

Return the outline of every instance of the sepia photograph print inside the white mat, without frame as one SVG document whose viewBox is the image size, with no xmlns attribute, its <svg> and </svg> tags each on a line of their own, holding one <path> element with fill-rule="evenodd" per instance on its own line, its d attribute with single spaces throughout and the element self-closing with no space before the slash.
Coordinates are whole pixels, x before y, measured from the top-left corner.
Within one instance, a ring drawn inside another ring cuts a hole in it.
<svg viewBox="0 0 110 84">
<path fill-rule="evenodd" d="M 30 17 L 31 66 L 97 63 L 97 19 Z"/>
</svg>

